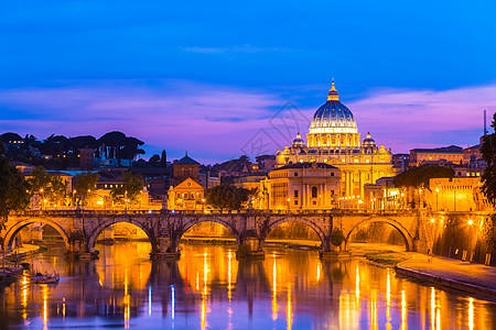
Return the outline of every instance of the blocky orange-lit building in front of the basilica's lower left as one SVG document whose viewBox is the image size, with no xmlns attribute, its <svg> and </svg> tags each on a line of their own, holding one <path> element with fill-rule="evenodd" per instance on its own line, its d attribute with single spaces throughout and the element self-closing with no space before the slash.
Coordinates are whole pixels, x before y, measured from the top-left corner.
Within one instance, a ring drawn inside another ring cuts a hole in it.
<svg viewBox="0 0 496 330">
<path fill-rule="evenodd" d="M 337 207 L 339 169 L 325 163 L 294 163 L 260 182 L 262 209 L 331 209 Z"/>
</svg>

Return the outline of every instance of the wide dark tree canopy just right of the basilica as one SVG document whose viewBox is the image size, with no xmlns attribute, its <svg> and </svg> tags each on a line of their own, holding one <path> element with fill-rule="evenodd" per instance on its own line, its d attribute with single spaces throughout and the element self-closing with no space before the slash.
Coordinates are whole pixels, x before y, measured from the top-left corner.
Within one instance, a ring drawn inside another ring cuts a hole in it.
<svg viewBox="0 0 496 330">
<path fill-rule="evenodd" d="M 420 167 L 412 167 L 398 174 L 392 183 L 396 187 L 424 187 L 430 189 L 429 179 L 453 176 L 453 168 L 438 165 L 424 165 Z"/>
</svg>

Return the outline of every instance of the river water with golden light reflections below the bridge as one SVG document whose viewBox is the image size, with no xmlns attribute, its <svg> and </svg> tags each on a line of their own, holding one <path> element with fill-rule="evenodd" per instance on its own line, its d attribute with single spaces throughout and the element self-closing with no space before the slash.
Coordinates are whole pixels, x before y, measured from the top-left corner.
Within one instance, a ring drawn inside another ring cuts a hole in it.
<svg viewBox="0 0 496 330">
<path fill-rule="evenodd" d="M 182 245 L 179 262 L 151 262 L 143 242 L 98 245 L 97 261 L 63 249 L 34 267 L 57 285 L 21 279 L 0 294 L 1 329 L 495 329 L 496 304 L 398 277 L 362 260 L 267 248 L 237 261 L 235 246 Z"/>
</svg>

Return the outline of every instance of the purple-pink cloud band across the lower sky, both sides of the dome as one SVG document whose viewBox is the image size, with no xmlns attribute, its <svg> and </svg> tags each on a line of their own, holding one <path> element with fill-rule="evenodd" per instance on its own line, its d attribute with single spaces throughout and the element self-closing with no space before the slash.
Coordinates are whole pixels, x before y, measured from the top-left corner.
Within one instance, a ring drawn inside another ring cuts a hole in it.
<svg viewBox="0 0 496 330">
<path fill-rule="evenodd" d="M 270 124 L 285 103 L 278 95 L 184 80 L 147 88 L 132 84 L 114 81 L 100 87 L 85 81 L 84 86 L 0 90 L 0 131 L 44 139 L 53 133 L 100 136 L 118 130 L 143 140 L 147 156 L 165 148 L 171 158 L 180 157 L 187 150 L 206 163 L 251 150 L 250 139 L 273 148 L 272 153 L 290 142 Z M 354 113 L 363 138 L 370 131 L 378 144 L 396 153 L 452 143 L 465 146 L 478 143 L 484 109 L 490 122 L 496 86 L 444 91 L 389 89 L 344 103 Z M 311 119 L 320 106 L 299 111 Z M 308 128 L 301 133 L 308 133 Z"/>
</svg>

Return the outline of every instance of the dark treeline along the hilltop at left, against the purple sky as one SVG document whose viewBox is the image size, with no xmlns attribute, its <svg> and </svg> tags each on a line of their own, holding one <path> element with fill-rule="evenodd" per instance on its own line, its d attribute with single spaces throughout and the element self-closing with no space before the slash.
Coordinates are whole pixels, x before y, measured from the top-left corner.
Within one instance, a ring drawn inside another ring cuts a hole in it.
<svg viewBox="0 0 496 330">
<path fill-rule="evenodd" d="M 39 140 L 34 135 L 22 138 L 17 133 L 4 133 L 0 139 L 10 160 L 61 169 L 78 166 L 79 150 L 84 147 L 94 148 L 95 157 L 134 160 L 137 155 L 144 154 L 141 148 L 144 142 L 122 132 L 109 132 L 98 139 L 91 135 L 67 138 L 52 134 Z"/>
</svg>

